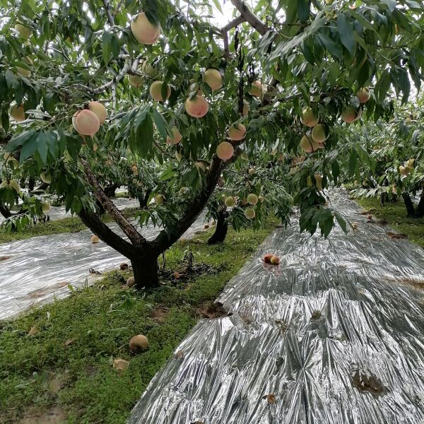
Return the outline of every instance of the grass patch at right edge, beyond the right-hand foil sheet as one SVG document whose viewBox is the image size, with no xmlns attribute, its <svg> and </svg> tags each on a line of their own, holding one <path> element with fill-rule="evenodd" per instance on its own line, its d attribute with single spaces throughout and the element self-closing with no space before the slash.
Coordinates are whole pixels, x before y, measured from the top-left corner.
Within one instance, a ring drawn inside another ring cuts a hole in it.
<svg viewBox="0 0 424 424">
<path fill-rule="evenodd" d="M 369 210 L 375 209 L 372 214 L 378 218 L 387 220 L 391 228 L 396 232 L 403 232 L 408 236 L 408 240 L 424 248 L 424 218 L 407 218 L 404 201 L 398 200 L 396 203 L 386 203 L 381 206 L 379 199 L 356 199 L 356 201 Z"/>
</svg>

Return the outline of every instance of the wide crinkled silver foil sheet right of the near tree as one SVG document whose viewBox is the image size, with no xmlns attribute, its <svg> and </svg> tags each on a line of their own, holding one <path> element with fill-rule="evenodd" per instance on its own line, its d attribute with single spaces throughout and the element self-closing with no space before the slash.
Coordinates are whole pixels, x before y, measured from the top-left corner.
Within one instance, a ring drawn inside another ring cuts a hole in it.
<svg viewBox="0 0 424 424">
<path fill-rule="evenodd" d="M 330 199 L 358 231 L 276 230 L 218 299 L 230 316 L 194 327 L 129 424 L 424 423 L 424 252 Z"/>
</svg>

